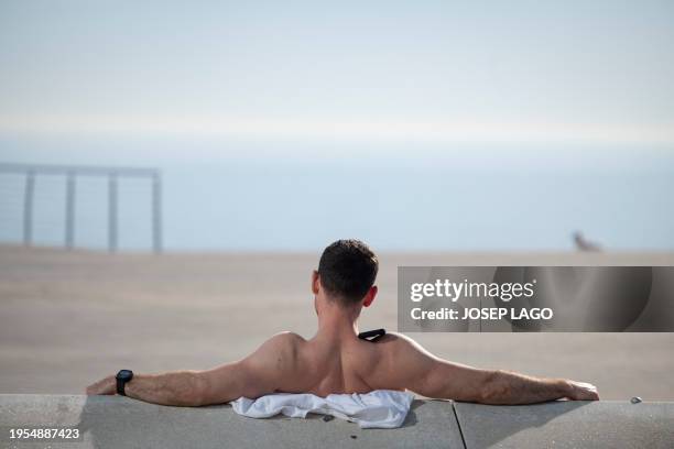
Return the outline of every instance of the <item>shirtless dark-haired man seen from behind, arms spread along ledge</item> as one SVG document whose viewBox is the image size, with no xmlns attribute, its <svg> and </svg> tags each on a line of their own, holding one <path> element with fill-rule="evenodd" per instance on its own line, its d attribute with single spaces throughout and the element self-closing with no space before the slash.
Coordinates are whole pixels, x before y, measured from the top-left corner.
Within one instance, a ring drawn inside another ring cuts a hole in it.
<svg viewBox="0 0 674 449">
<path fill-rule="evenodd" d="M 318 331 L 311 340 L 283 332 L 237 362 L 206 371 L 120 372 L 121 382 L 110 375 L 87 387 L 87 394 L 122 393 L 177 406 L 222 404 L 274 392 L 327 396 L 384 388 L 483 404 L 599 398 L 597 388 L 587 383 L 453 363 L 400 333 L 376 342 L 359 339 L 358 317 L 377 296 L 378 269 L 377 256 L 365 243 L 339 240 L 325 249 L 312 274 Z"/>
</svg>

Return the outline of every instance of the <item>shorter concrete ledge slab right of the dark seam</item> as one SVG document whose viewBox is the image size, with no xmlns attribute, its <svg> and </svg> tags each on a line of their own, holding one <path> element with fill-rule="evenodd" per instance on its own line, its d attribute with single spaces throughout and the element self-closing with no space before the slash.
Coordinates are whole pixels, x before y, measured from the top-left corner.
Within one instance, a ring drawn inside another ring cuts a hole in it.
<svg viewBox="0 0 674 449">
<path fill-rule="evenodd" d="M 674 448 L 674 403 L 454 407 L 468 448 Z"/>
</svg>

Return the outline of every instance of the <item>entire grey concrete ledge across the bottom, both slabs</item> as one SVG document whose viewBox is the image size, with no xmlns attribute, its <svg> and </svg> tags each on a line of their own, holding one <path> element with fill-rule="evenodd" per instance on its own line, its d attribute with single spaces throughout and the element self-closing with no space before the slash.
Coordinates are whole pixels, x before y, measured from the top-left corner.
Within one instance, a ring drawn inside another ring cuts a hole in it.
<svg viewBox="0 0 674 449">
<path fill-rule="evenodd" d="M 0 395 L 0 427 L 74 426 L 52 448 L 672 448 L 674 403 L 556 402 L 486 406 L 415 401 L 400 429 L 340 419 L 251 419 L 230 406 L 164 407 L 119 396 Z M 44 448 L 11 442 L 0 447 Z M 355 438 L 354 438 L 355 437 Z"/>
</svg>

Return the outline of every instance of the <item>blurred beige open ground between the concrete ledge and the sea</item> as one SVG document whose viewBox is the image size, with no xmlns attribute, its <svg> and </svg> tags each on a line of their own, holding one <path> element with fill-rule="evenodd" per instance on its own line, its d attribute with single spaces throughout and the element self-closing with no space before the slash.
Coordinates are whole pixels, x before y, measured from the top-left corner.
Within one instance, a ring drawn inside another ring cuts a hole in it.
<svg viewBox="0 0 674 449">
<path fill-rule="evenodd" d="M 120 368 L 205 369 L 313 336 L 318 254 L 107 254 L 0 247 L 0 393 L 81 393 Z M 383 253 L 361 330 L 396 327 L 398 265 L 674 265 L 674 253 Z M 674 399 L 674 333 L 415 333 L 456 362 Z"/>
</svg>

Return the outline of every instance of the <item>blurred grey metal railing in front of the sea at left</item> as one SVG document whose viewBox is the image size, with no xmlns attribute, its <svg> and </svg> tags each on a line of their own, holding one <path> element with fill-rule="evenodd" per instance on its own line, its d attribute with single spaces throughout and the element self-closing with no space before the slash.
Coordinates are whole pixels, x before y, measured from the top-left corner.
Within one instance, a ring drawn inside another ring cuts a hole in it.
<svg viewBox="0 0 674 449">
<path fill-rule="evenodd" d="M 65 236 L 64 244 L 75 247 L 75 199 L 77 195 L 78 176 L 96 176 L 108 179 L 108 250 L 118 250 L 118 180 L 122 177 L 146 178 L 152 183 L 152 248 L 154 252 L 162 251 L 162 176 L 155 168 L 137 167 L 99 167 L 44 164 L 11 164 L 0 163 L 0 174 L 24 175 L 23 195 L 23 244 L 33 243 L 33 198 L 35 178 L 41 175 L 64 175 L 65 195 Z"/>
</svg>

